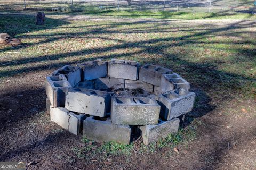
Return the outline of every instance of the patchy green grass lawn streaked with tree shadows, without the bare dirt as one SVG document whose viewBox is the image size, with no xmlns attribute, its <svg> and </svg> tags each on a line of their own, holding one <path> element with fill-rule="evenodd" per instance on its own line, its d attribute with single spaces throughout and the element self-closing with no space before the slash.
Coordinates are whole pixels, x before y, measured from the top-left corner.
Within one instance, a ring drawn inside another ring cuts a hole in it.
<svg viewBox="0 0 256 170">
<path fill-rule="evenodd" d="M 97 14 L 101 16 L 92 16 L 93 12 L 84 12 L 84 14 L 87 15 L 49 13 L 44 26 L 36 26 L 34 17 L 30 15 L 0 15 L 0 32 L 9 33 L 22 41 L 19 46 L 0 45 L 2 97 L 9 96 L 8 90 L 19 87 L 17 82 L 28 87 L 34 83 L 23 81 L 23 77 L 32 77 L 35 82 L 41 83 L 37 88 L 43 89 L 42 81 L 45 75 L 65 64 L 77 64 L 96 58 L 103 60 L 125 58 L 126 60 L 136 60 L 142 64 L 162 65 L 172 69 L 190 82 L 191 90 L 197 94 L 193 114 L 187 117 L 189 123 L 193 122 L 190 126 L 196 124 L 205 129 L 207 123 L 211 124 L 211 120 L 218 118 L 218 121 L 226 122 L 221 124 L 216 120 L 217 124 L 233 128 L 237 125 L 238 130 L 237 128 L 231 129 L 234 132 L 243 130 L 243 134 L 246 134 L 247 128 L 239 124 L 238 120 L 245 124 L 255 121 L 255 16 L 250 14 L 218 15 L 214 13 L 116 12 L 111 10 Z M 123 17 L 113 18 L 112 16 Z M 127 16 L 132 18 L 127 18 Z M 37 75 L 43 77 L 37 79 Z M 12 87 L 13 83 L 17 84 Z M 212 115 L 215 117 L 207 117 L 209 112 L 213 112 Z M 202 120 L 197 118 L 203 115 L 206 115 L 207 118 L 202 118 Z M 202 123 L 195 123 L 194 118 L 197 118 L 196 122 Z M 255 128 L 255 125 L 250 126 L 251 129 Z M 225 133 L 230 135 L 230 139 L 234 137 L 235 140 L 236 134 L 229 131 L 230 129 Z M 196 130 L 196 128 L 193 130 L 182 129 L 178 134 L 169 137 L 169 140 L 159 141 L 154 144 L 154 147 L 146 148 L 146 151 L 141 154 L 148 154 L 150 150 L 156 152 L 155 148 L 158 148 L 157 152 L 162 151 L 162 148 L 170 147 L 170 143 L 177 140 L 178 142 L 174 142 L 175 145 L 171 146 L 172 148 L 185 144 L 187 147 L 190 145 L 197 147 L 190 140 L 196 139 L 195 133 L 198 133 L 197 140 L 208 139 L 205 142 L 208 142 L 210 148 L 212 137 L 216 140 L 215 143 L 218 143 L 221 140 L 219 138 L 225 136 L 224 132 L 220 135 L 219 133 L 209 134 L 204 130 Z M 248 132 L 249 139 L 247 141 L 254 139 L 255 135 L 254 132 Z M 179 139 L 179 136 L 182 140 Z M 87 147 L 73 146 L 70 149 L 79 159 L 84 159 L 90 153 L 96 153 L 92 143 L 86 139 L 83 139 L 83 143 Z M 226 149 L 226 145 L 223 148 Z M 250 146 L 248 145 L 247 148 L 250 149 Z M 101 146 L 100 149 L 107 154 L 109 152 L 121 154 L 116 150 L 124 150 L 127 154 L 126 152 L 130 153 L 133 150 L 131 146 L 115 146 L 111 143 Z M 141 149 L 143 150 L 143 147 Z M 97 153 L 101 151 L 97 150 Z M 225 151 L 228 152 L 228 150 Z M 240 151 L 241 149 L 237 150 L 237 152 Z M 165 151 L 163 150 L 163 152 Z M 191 153 L 193 154 L 193 151 Z M 234 151 L 234 153 L 236 152 Z M 255 154 L 249 151 L 248 153 L 251 153 L 251 155 L 247 155 L 248 159 L 253 160 Z M 217 161 L 215 157 L 210 159 L 207 154 L 203 154 L 203 156 L 207 159 L 201 160 L 202 158 L 200 158 L 198 161 L 205 164 L 198 163 L 198 165 L 215 167 L 214 161 Z M 62 158 L 59 157 L 59 159 Z M 148 157 L 146 156 L 146 158 Z M 113 160 L 115 159 L 117 158 L 113 158 Z M 169 157 L 169 159 L 171 158 Z M 243 164 L 239 164 L 241 162 Z M 74 161 L 72 164 L 76 164 L 76 162 Z M 86 165 L 89 164 L 86 163 Z M 184 163 L 185 165 L 186 163 Z M 227 166 L 231 167 L 231 165 L 233 164 L 229 162 Z M 256 168 L 255 164 L 253 167 L 253 163 L 246 164 L 244 158 L 239 158 L 234 166 Z M 133 168 L 135 167 L 137 166 Z"/>
</svg>

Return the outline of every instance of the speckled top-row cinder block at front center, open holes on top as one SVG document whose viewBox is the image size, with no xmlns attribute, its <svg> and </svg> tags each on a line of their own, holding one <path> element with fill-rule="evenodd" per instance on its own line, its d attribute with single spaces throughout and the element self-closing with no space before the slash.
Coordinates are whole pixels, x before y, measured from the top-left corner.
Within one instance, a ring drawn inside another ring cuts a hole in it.
<svg viewBox="0 0 256 170">
<path fill-rule="evenodd" d="M 148 97 L 113 97 L 111 121 L 123 125 L 154 125 L 158 123 L 160 106 Z"/>
</svg>

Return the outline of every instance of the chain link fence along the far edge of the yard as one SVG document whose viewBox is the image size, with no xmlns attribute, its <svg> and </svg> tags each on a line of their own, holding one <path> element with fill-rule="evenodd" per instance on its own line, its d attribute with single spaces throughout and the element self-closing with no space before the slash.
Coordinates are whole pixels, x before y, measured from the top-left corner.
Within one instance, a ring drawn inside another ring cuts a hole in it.
<svg viewBox="0 0 256 170">
<path fill-rule="evenodd" d="M 1 11 L 99 9 L 253 13 L 256 0 L 0 0 Z"/>
</svg>

